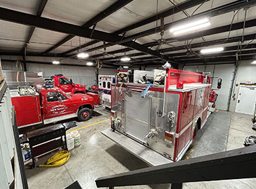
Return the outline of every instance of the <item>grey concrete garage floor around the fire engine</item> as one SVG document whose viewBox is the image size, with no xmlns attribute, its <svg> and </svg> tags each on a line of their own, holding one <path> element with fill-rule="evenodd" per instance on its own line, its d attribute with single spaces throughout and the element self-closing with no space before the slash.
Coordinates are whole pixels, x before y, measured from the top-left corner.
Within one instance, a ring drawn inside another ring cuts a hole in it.
<svg viewBox="0 0 256 189">
<path fill-rule="evenodd" d="M 110 119 L 109 112 L 105 110 L 99 110 L 99 112 L 102 115 L 80 122 L 77 127 L 72 128 L 90 125 L 79 130 L 81 145 L 71 151 L 70 159 L 66 164 L 57 168 L 36 167 L 26 170 L 30 189 L 65 188 L 76 180 L 84 189 L 96 188 L 95 180 L 100 176 L 147 167 L 142 160 L 118 147 L 100 133 L 103 129 L 110 127 Z M 98 123 L 99 121 L 102 122 Z M 243 147 L 243 141 L 248 135 L 256 135 L 256 131 L 251 129 L 251 115 L 217 111 L 210 115 L 207 124 L 197 135 L 197 143 L 184 158 Z M 168 186 L 116 188 L 168 188 Z M 184 188 L 256 188 L 256 179 L 192 182 L 185 183 Z"/>
</svg>

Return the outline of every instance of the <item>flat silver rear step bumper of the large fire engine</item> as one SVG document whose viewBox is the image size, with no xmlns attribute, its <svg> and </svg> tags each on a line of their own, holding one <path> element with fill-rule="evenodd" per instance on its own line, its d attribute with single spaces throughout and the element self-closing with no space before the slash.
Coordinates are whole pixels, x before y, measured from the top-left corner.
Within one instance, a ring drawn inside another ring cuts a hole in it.
<svg viewBox="0 0 256 189">
<path fill-rule="evenodd" d="M 150 166 L 158 166 L 160 164 L 166 164 L 173 162 L 172 160 L 163 157 L 156 153 L 152 149 L 145 147 L 144 145 L 126 137 L 125 135 L 118 133 L 118 131 L 112 132 L 110 129 L 101 131 L 103 135 L 114 141 L 120 147 L 126 149 L 126 151 L 132 153 L 136 157 L 140 158 Z"/>
</svg>

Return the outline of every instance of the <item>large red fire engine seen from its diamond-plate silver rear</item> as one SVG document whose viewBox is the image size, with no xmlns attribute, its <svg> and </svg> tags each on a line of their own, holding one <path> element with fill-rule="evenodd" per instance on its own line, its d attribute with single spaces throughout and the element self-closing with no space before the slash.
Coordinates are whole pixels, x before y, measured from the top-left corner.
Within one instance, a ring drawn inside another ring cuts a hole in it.
<svg viewBox="0 0 256 189">
<path fill-rule="evenodd" d="M 133 83 L 112 86 L 111 131 L 102 133 L 148 164 L 161 164 L 162 156 L 180 160 L 207 121 L 210 78 L 174 69 L 139 72 Z M 142 84 L 146 78 L 153 84 Z"/>
</svg>

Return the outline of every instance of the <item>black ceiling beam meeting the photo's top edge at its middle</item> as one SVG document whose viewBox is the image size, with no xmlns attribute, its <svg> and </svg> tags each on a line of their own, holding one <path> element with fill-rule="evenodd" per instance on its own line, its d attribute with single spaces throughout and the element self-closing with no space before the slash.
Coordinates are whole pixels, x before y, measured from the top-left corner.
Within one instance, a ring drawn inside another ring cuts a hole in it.
<svg viewBox="0 0 256 189">
<path fill-rule="evenodd" d="M 102 21 L 103 19 L 105 19 L 106 17 L 108 17 L 112 13 L 118 11 L 118 9 L 121 9 L 122 7 L 124 7 L 125 5 L 127 5 L 128 3 L 132 2 L 132 1 L 133 0 L 119 0 L 119 1 L 116 1 L 116 3 L 114 3 L 113 5 L 111 5 L 107 9 L 105 9 L 104 11 L 98 13 L 98 15 L 96 15 L 95 17 L 90 19 L 90 21 L 87 21 L 84 25 L 82 25 L 82 27 L 89 28 L 89 27 L 92 27 L 92 25 L 96 25 L 96 23 L 98 23 L 99 21 Z M 45 53 L 51 52 L 52 50 L 61 46 L 62 44 L 64 44 L 65 42 L 67 42 L 68 40 L 70 40 L 73 37 L 74 37 L 74 35 L 71 35 L 71 34 L 66 36 L 61 41 L 59 41 L 57 44 L 55 44 L 53 47 L 46 50 Z M 96 42 L 98 42 L 98 41 L 96 41 Z"/>
</svg>

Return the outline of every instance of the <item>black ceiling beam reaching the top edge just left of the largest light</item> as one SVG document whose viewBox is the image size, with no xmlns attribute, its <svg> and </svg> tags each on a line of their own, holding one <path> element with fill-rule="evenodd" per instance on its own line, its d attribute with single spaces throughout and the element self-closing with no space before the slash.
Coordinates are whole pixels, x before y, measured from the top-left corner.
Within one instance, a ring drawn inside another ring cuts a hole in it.
<svg viewBox="0 0 256 189">
<path fill-rule="evenodd" d="M 177 5 L 176 7 L 172 7 L 162 13 L 159 13 L 157 15 L 154 15 L 152 17 L 149 17 L 148 19 L 144 19 L 143 21 L 139 21 L 138 23 L 134 23 L 128 27 L 125 27 L 123 29 L 120 29 L 116 32 L 113 32 L 113 34 L 122 34 L 124 32 L 127 32 L 127 31 L 130 31 L 132 29 L 136 29 L 138 27 L 142 27 L 144 25 L 147 25 L 149 23 L 152 23 L 154 21 L 156 21 L 156 19 L 160 19 L 160 17 L 164 18 L 164 17 L 169 17 L 175 13 L 179 13 L 180 11 L 184 11 L 186 9 L 190 9 L 191 7 L 194 7 L 196 5 L 199 5 L 200 3 L 204 3 L 206 1 L 209 1 L 209 0 L 193 0 L 193 1 L 187 1 L 185 3 L 181 3 L 180 5 Z M 86 44 L 82 44 L 81 48 L 85 48 L 86 46 L 90 46 L 92 44 L 96 44 L 98 41 L 91 41 L 91 42 L 88 42 Z M 66 52 L 64 52 L 63 54 L 68 54 L 70 52 L 74 52 L 76 50 L 78 50 L 79 47 L 76 47 L 76 48 L 72 48 L 71 50 L 67 50 Z"/>
</svg>

